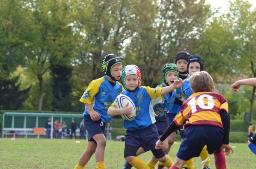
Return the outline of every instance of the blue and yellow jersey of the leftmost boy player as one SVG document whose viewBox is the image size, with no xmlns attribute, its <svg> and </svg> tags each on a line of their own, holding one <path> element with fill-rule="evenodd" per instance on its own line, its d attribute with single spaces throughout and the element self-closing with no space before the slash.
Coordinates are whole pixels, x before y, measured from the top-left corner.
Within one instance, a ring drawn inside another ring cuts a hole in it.
<svg viewBox="0 0 256 169">
<path fill-rule="evenodd" d="M 116 96 L 122 93 L 123 90 L 124 88 L 119 82 L 116 82 L 113 87 L 108 82 L 107 76 L 103 76 L 90 82 L 80 101 L 85 104 L 91 104 L 93 110 L 101 115 L 101 120 L 108 123 L 113 118 L 113 116 L 108 116 L 108 107 L 111 106 Z M 88 110 L 85 107 L 83 115 L 88 114 Z"/>
</svg>

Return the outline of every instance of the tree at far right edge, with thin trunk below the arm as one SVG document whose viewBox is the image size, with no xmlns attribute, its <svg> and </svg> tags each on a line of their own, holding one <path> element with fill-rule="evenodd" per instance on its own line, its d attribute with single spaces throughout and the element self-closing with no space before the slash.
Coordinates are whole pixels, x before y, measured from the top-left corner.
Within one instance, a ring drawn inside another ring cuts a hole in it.
<svg viewBox="0 0 256 169">
<path fill-rule="evenodd" d="M 237 53 L 234 56 L 239 62 L 236 65 L 236 73 L 248 77 L 256 77 L 256 10 L 247 0 L 236 0 L 230 2 L 228 21 L 233 25 L 233 32 L 238 43 Z M 251 91 L 250 120 L 253 119 L 254 93 L 256 87 Z"/>
</svg>

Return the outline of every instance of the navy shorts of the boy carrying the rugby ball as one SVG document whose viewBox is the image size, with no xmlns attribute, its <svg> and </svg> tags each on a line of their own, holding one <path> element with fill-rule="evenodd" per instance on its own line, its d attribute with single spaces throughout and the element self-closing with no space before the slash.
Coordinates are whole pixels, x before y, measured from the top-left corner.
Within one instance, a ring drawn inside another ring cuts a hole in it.
<svg viewBox="0 0 256 169">
<path fill-rule="evenodd" d="M 155 149 L 158 139 L 159 135 L 157 132 L 157 127 L 155 124 L 152 124 L 149 127 L 141 130 L 126 130 L 125 146 L 130 145 L 142 147 L 145 151 L 149 151 Z"/>
</svg>

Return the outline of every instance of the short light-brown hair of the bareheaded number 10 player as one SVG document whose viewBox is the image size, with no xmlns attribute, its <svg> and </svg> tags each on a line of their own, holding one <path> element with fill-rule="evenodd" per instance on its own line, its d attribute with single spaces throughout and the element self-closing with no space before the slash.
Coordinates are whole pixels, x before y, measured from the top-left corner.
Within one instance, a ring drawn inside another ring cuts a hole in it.
<svg viewBox="0 0 256 169">
<path fill-rule="evenodd" d="M 212 92 L 214 82 L 212 76 L 206 71 L 195 72 L 189 77 L 190 87 L 194 92 Z"/>
</svg>

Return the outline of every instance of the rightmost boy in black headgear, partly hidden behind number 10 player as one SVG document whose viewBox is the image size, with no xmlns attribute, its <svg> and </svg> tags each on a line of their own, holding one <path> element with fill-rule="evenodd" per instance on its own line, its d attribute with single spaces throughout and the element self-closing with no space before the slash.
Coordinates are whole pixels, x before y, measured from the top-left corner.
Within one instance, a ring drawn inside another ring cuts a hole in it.
<svg viewBox="0 0 256 169">
<path fill-rule="evenodd" d="M 187 70 L 189 71 L 189 75 L 191 76 L 195 72 L 200 72 L 204 70 L 204 60 L 199 55 L 192 55 L 188 59 L 187 66 L 188 66 Z M 185 79 L 183 81 L 181 92 L 183 93 L 183 96 L 185 96 L 185 101 L 189 98 L 189 96 L 193 94 L 193 91 L 190 87 L 189 79 Z M 225 157 L 224 154 L 223 156 Z M 200 157 L 202 161 L 206 160 L 209 157 L 209 153 L 207 152 L 207 146 L 204 146 L 204 148 L 202 149 Z M 184 169 L 194 169 L 193 158 L 189 159 L 186 162 Z M 208 159 L 204 163 L 204 169 L 211 169 L 210 159 Z"/>
</svg>

